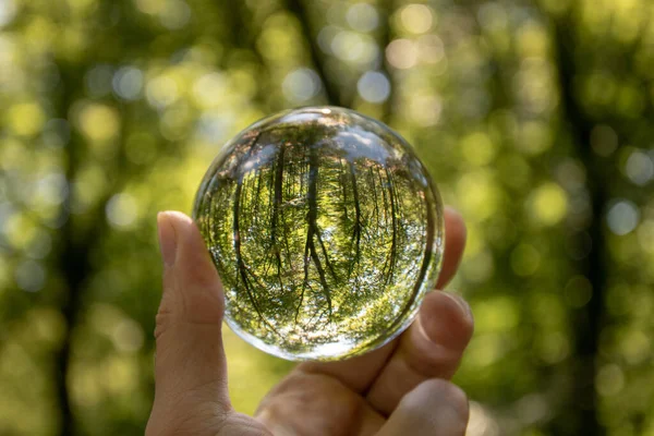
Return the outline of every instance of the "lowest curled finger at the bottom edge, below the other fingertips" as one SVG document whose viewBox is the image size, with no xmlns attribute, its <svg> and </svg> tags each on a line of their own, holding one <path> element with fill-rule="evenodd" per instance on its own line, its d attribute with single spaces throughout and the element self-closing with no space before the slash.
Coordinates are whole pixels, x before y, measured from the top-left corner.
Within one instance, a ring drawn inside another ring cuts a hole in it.
<svg viewBox="0 0 654 436">
<path fill-rule="evenodd" d="M 449 382 L 423 382 L 402 399 L 377 436 L 463 436 L 468 398 Z"/>
</svg>

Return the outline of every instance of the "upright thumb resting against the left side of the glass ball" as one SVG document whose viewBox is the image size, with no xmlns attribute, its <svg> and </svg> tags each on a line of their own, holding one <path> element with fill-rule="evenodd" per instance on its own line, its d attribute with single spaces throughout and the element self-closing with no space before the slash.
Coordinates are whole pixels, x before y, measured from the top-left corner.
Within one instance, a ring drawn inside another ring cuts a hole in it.
<svg viewBox="0 0 654 436">
<path fill-rule="evenodd" d="M 225 296 L 218 272 L 191 218 L 166 211 L 158 215 L 157 225 L 164 294 L 155 329 L 150 424 L 166 422 L 170 432 L 175 416 L 184 425 L 190 416 L 205 425 L 219 423 L 230 413 L 231 404 L 221 336 Z"/>
</svg>

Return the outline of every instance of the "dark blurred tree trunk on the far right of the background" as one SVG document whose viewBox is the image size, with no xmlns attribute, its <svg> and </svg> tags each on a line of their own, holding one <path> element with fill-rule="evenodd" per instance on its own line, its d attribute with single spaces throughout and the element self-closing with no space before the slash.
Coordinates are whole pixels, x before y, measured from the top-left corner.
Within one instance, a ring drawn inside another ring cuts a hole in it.
<svg viewBox="0 0 654 436">
<path fill-rule="evenodd" d="M 607 202 L 606 174 L 603 174 L 595 164 L 591 148 L 591 132 L 594 121 L 580 107 L 574 88 L 576 41 L 573 26 L 569 17 L 559 19 L 555 24 L 555 50 L 558 56 L 559 86 L 561 94 L 561 117 L 567 122 L 566 128 L 570 138 L 578 149 L 578 156 L 585 165 L 586 189 L 591 201 L 591 221 L 586 229 L 592 240 L 592 247 L 586 258 L 579 262 L 579 272 L 592 286 L 592 298 L 586 305 L 571 313 L 574 329 L 574 351 L 578 363 L 573 368 L 572 380 L 576 386 L 571 389 L 569 412 L 561 414 L 561 420 L 554 423 L 557 435 L 588 434 L 602 436 L 606 433 L 598 421 L 595 375 L 600 335 L 604 318 L 604 294 L 606 290 L 607 253 L 604 241 L 603 216 Z M 566 134 L 564 133 L 564 134 Z M 583 238 L 583 232 L 580 232 Z M 570 415 L 573 413 L 573 416 Z"/>
</svg>

